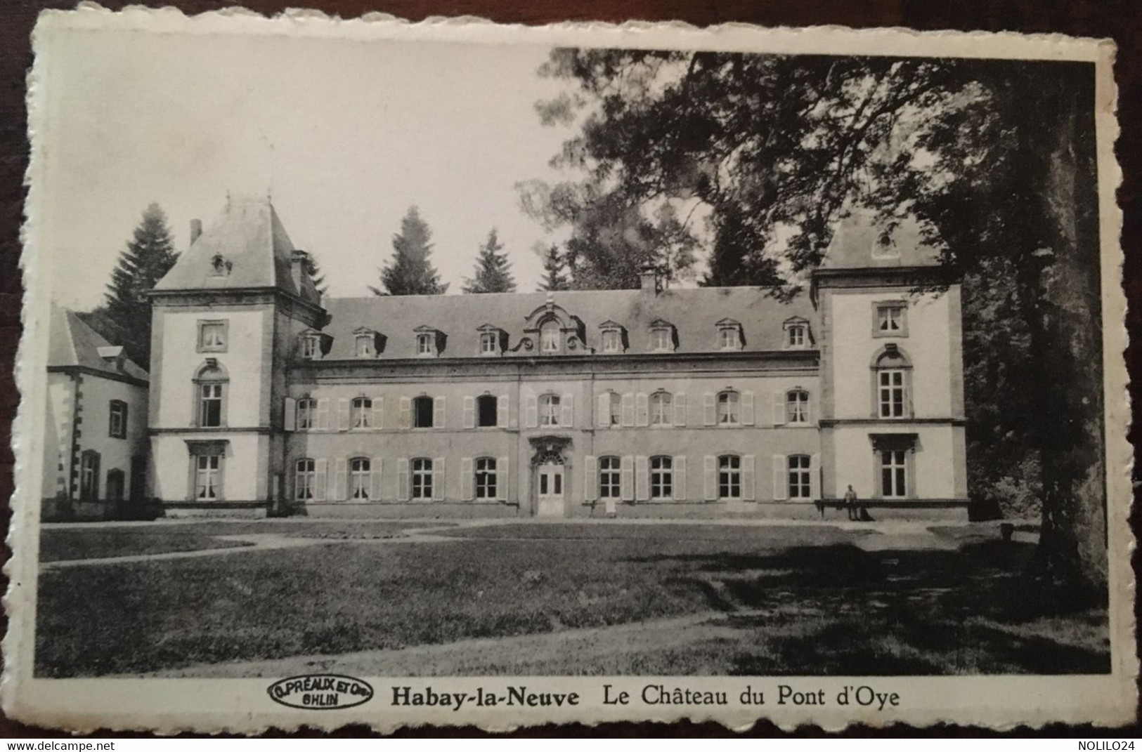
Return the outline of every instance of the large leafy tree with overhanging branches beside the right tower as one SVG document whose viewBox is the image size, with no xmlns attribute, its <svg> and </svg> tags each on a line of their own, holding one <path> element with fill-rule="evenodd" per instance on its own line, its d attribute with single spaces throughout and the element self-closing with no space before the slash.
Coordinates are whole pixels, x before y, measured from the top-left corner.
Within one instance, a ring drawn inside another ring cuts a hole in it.
<svg viewBox="0 0 1142 752">
<path fill-rule="evenodd" d="M 683 225 L 710 253 L 708 283 L 804 283 L 837 219 L 864 205 L 886 231 L 920 220 L 975 285 L 970 306 L 987 307 L 974 293 L 989 273 L 1011 274 L 1011 335 L 1052 363 L 1015 365 L 1002 393 L 974 397 L 1026 391 L 995 427 L 1008 423 L 1010 456 L 1038 462 L 1023 469 L 1043 490 L 1035 582 L 1055 603 L 1105 597 L 1091 66 L 561 49 L 540 73 L 571 86 L 538 111 L 578 122 L 555 163 L 581 177 L 524 185 L 521 201 L 573 237 L 602 232 L 598 207 L 697 201 L 703 226 Z"/>
</svg>

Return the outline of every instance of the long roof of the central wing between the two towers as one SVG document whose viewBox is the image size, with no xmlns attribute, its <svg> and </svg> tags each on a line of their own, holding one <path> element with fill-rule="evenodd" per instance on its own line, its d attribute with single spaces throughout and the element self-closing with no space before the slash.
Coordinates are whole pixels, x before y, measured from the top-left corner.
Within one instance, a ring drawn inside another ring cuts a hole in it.
<svg viewBox="0 0 1142 752">
<path fill-rule="evenodd" d="M 330 298 L 324 301 L 331 316 L 324 331 L 333 335 L 327 359 L 353 357 L 353 332 L 359 326 L 376 329 L 399 345 L 413 337 L 418 326 L 429 326 L 450 337 L 443 357 L 480 358 L 476 348 L 464 342 L 475 338 L 471 322 L 486 322 L 507 332 L 508 349 L 522 337 L 533 337 L 529 317 L 542 309 L 548 294 L 556 307 L 584 322 L 586 345 L 601 350 L 604 323 L 626 329 L 630 351 L 645 351 L 654 322 L 669 322 L 677 331 L 675 353 L 719 353 L 716 323 L 732 316 L 741 322 L 748 343 L 743 351 L 785 349 L 783 322 L 790 316 L 815 321 L 809 296 L 796 296 L 783 302 L 767 288 L 693 288 L 673 289 L 659 293 L 641 290 L 582 290 L 537 293 L 482 293 L 466 296 L 373 296 L 369 298 Z M 408 341 L 411 341 L 408 340 Z M 533 342 L 538 346 L 538 342 Z M 536 357 L 537 349 L 518 349 L 513 355 Z M 404 357 L 405 348 L 393 347 L 378 359 Z M 573 351 L 578 354 L 579 350 Z"/>
</svg>

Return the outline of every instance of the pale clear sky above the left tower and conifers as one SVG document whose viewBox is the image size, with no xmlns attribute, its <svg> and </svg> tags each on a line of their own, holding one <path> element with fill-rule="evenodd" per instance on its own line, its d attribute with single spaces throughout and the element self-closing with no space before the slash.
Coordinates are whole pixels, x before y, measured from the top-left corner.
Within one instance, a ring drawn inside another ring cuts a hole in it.
<svg viewBox="0 0 1142 752">
<path fill-rule="evenodd" d="M 532 245 L 562 240 L 514 187 L 558 179 L 572 135 L 533 110 L 564 86 L 537 74 L 547 47 L 70 31 L 50 51 L 38 229 L 66 307 L 103 301 L 151 202 L 183 250 L 227 192 L 268 192 L 335 297 L 378 284 L 412 204 L 450 293 L 492 227 L 521 291 L 542 274 Z"/>
</svg>

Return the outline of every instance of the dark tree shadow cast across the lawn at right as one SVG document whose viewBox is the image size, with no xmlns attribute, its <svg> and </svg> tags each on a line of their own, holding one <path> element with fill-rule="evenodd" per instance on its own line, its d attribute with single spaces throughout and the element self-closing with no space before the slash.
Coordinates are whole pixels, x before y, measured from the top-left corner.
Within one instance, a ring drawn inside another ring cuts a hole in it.
<svg viewBox="0 0 1142 752">
<path fill-rule="evenodd" d="M 1107 673 L 1104 609 L 1061 613 L 1022 573 L 1035 545 L 863 551 L 854 545 L 673 559 L 730 613 L 733 673 Z"/>
</svg>

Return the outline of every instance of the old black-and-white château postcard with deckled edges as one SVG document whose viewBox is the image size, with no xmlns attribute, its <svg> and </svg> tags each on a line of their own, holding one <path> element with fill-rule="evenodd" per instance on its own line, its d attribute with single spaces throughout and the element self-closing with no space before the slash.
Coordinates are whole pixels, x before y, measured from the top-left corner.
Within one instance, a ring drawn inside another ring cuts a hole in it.
<svg viewBox="0 0 1142 752">
<path fill-rule="evenodd" d="M 1133 718 L 1110 52 L 820 34 L 41 17 L 8 701 Z"/>
</svg>

